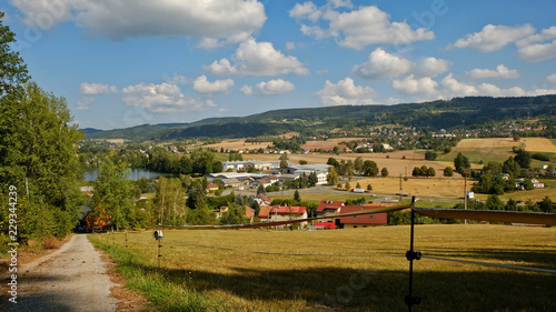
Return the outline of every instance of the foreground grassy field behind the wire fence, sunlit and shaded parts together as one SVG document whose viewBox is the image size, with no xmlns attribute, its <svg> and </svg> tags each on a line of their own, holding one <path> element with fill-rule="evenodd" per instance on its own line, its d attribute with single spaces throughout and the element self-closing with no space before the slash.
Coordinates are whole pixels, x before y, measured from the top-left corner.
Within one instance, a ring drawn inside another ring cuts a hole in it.
<svg viewBox="0 0 556 312">
<path fill-rule="evenodd" d="M 409 227 L 165 231 L 160 271 L 151 232 L 127 236 L 127 250 L 122 233 L 89 238 L 120 263 L 128 286 L 161 311 L 407 310 Z M 429 256 L 555 270 L 555 236 L 554 228 L 417 225 L 415 248 Z M 554 273 L 431 259 L 414 268 L 414 295 L 421 298 L 416 311 L 556 311 Z"/>
</svg>

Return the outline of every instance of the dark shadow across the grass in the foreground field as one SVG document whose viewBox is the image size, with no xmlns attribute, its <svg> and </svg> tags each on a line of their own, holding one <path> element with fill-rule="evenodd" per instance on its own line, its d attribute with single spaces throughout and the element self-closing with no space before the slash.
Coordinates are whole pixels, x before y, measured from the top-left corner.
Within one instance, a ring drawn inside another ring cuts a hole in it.
<svg viewBox="0 0 556 312">
<path fill-rule="evenodd" d="M 349 264 L 346 263 L 346 266 Z M 556 274 L 510 270 L 414 272 L 415 311 L 556 311 Z M 156 272 L 151 266 L 142 270 Z M 228 268 L 232 273 L 163 270 L 166 281 L 196 291 L 220 291 L 248 301 L 302 301 L 308 310 L 406 311 L 408 271 L 346 268 L 255 270 Z M 282 305 L 286 309 L 287 304 Z M 280 309 L 281 310 L 281 309 Z"/>
</svg>

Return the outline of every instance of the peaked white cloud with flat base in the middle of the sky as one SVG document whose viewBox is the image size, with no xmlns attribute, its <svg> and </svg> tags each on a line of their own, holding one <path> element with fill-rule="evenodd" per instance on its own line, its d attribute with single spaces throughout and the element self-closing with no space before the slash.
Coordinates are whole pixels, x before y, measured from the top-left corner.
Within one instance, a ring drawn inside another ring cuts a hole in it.
<svg viewBox="0 0 556 312">
<path fill-rule="evenodd" d="M 308 74 L 296 57 L 285 56 L 276 50 L 270 42 L 257 42 L 249 39 L 239 44 L 231 57 L 236 63 L 232 66 L 228 59 L 221 59 L 205 66 L 203 69 L 218 76 L 278 76 L 286 73 Z"/>
</svg>

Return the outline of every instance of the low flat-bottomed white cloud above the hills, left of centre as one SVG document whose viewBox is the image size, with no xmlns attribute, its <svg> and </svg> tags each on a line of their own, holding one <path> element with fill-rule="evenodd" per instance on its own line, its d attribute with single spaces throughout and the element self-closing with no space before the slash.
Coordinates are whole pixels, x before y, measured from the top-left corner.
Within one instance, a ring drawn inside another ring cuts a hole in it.
<svg viewBox="0 0 556 312">
<path fill-rule="evenodd" d="M 152 84 L 141 82 L 121 90 L 127 105 L 149 109 L 153 112 L 201 111 L 214 107 L 211 101 L 200 101 L 181 93 L 178 85 L 163 82 Z"/>
</svg>

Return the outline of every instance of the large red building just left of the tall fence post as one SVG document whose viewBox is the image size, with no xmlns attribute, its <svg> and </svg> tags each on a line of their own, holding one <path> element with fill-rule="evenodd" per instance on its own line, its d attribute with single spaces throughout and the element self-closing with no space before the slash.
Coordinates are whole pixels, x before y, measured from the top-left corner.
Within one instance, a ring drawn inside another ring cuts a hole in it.
<svg viewBox="0 0 556 312">
<path fill-rule="evenodd" d="M 384 208 L 384 207 L 387 205 L 381 205 L 381 204 L 342 205 L 340 208 L 339 214 Z M 388 220 L 386 217 L 386 212 L 334 218 L 334 224 L 336 224 L 336 227 L 338 227 L 339 229 L 367 228 L 374 225 L 386 225 L 387 223 Z"/>
</svg>

